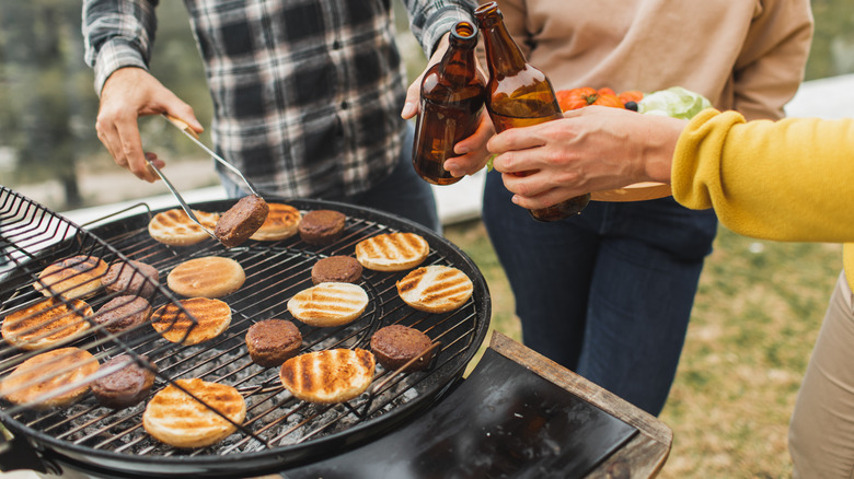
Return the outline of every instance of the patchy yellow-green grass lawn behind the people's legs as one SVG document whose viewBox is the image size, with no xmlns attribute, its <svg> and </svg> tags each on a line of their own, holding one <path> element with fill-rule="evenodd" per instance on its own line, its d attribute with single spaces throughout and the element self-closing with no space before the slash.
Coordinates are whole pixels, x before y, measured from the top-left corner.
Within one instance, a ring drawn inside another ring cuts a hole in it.
<svg viewBox="0 0 854 479">
<path fill-rule="evenodd" d="M 448 226 L 446 236 L 486 278 L 492 327 L 521 340 L 483 225 Z M 790 476 L 788 420 L 841 268 L 840 245 L 757 241 L 720 227 L 660 416 L 673 430 L 660 478 Z"/>
</svg>

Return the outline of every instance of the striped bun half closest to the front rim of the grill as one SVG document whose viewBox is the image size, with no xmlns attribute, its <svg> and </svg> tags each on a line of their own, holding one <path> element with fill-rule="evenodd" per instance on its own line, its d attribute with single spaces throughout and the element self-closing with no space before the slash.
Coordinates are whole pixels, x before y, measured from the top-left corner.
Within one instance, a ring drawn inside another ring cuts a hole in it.
<svg viewBox="0 0 854 479">
<path fill-rule="evenodd" d="M 175 384 L 204 404 L 175 385 L 160 390 L 148 401 L 142 413 L 142 427 L 155 440 L 175 447 L 205 447 L 236 431 L 238 428 L 222 416 L 243 424 L 246 401 L 232 386 L 198 378 L 177 379 Z"/>
</svg>

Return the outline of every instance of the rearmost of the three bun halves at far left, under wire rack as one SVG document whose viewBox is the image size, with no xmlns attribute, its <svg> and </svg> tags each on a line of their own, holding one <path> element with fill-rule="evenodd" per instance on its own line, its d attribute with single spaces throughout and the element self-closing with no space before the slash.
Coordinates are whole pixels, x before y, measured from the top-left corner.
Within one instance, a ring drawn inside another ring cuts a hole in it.
<svg viewBox="0 0 854 479">
<path fill-rule="evenodd" d="M 45 296 L 86 297 L 101 289 L 101 277 L 106 270 L 107 264 L 101 258 L 72 256 L 42 270 L 33 288 Z"/>
</svg>

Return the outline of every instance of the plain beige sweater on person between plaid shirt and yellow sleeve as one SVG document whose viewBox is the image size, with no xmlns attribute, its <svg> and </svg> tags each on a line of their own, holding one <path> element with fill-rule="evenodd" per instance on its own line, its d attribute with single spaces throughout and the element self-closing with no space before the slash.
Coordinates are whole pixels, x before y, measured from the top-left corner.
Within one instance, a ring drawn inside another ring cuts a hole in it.
<svg viewBox="0 0 854 479">
<path fill-rule="evenodd" d="M 781 118 L 804 77 L 809 0 L 498 0 L 555 90 L 684 86 L 748 119 Z"/>
</svg>

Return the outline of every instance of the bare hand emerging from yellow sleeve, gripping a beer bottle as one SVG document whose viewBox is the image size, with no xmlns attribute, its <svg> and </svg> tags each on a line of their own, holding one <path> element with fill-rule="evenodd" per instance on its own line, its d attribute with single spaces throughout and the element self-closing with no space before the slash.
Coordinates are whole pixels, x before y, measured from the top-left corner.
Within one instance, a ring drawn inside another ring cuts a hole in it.
<svg viewBox="0 0 854 479">
<path fill-rule="evenodd" d="M 686 124 L 588 106 L 564 113 L 563 119 L 508 129 L 488 147 L 513 203 L 538 209 L 588 191 L 670 183 L 673 151 Z"/>
</svg>

